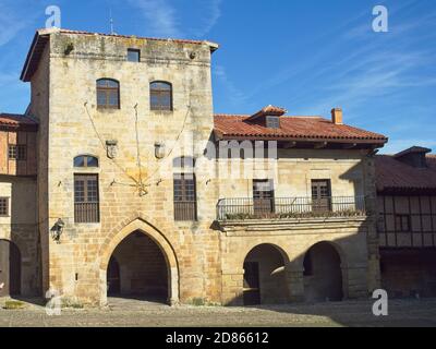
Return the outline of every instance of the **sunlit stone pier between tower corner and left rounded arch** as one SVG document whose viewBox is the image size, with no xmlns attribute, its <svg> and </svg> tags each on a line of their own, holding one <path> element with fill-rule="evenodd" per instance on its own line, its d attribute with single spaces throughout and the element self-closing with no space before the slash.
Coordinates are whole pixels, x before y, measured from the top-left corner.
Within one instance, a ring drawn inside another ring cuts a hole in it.
<svg viewBox="0 0 436 349">
<path fill-rule="evenodd" d="M 222 270 L 222 305 L 244 305 L 244 270 Z"/>
</svg>

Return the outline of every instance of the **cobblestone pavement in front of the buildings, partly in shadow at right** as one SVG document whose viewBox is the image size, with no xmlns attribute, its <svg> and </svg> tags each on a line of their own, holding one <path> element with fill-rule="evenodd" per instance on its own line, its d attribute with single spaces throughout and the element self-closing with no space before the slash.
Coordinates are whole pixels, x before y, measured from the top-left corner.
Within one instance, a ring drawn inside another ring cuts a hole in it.
<svg viewBox="0 0 436 349">
<path fill-rule="evenodd" d="M 436 327 L 435 300 L 389 302 L 389 315 L 372 314 L 372 302 L 261 308 L 175 306 L 138 300 L 111 300 L 105 309 L 65 309 L 48 316 L 45 308 L 26 303 L 22 310 L 0 309 L 0 327 L 295 327 L 295 326 L 432 326 Z"/>
</svg>

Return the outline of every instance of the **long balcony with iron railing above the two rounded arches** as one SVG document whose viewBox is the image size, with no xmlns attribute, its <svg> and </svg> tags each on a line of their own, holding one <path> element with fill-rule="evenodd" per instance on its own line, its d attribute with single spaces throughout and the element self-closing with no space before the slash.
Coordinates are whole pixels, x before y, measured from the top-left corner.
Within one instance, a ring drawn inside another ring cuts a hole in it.
<svg viewBox="0 0 436 349">
<path fill-rule="evenodd" d="M 364 217 L 365 196 L 221 198 L 217 204 L 219 221 L 250 219 L 303 219 Z"/>
</svg>

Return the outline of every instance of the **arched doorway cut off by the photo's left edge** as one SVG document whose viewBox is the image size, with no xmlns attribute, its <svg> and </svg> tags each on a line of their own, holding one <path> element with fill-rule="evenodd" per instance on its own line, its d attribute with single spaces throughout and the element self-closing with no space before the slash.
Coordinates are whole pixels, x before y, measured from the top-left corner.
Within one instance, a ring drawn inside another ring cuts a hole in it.
<svg viewBox="0 0 436 349">
<path fill-rule="evenodd" d="M 0 297 L 21 294 L 21 253 L 15 243 L 0 240 Z"/>
</svg>

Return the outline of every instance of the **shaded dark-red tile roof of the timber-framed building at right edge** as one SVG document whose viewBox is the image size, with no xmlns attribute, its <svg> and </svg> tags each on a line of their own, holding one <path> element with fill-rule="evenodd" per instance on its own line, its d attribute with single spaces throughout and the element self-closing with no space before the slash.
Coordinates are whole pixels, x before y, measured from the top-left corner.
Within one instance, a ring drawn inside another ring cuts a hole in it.
<svg viewBox="0 0 436 349">
<path fill-rule="evenodd" d="M 377 191 L 436 190 L 436 156 L 427 155 L 427 168 L 401 163 L 391 155 L 377 155 Z"/>
</svg>

